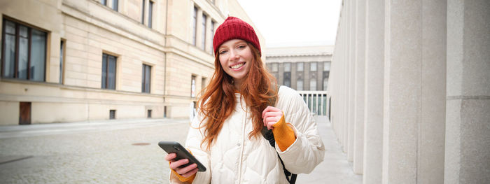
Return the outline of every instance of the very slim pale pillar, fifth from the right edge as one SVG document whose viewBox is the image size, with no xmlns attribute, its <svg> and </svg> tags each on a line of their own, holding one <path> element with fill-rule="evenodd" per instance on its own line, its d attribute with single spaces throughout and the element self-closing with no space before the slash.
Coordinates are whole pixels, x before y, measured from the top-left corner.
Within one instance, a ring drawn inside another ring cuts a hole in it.
<svg viewBox="0 0 490 184">
<path fill-rule="evenodd" d="M 349 118 L 349 143 L 347 150 L 347 160 L 349 162 L 353 162 L 353 152 L 354 152 L 354 91 L 356 90 L 356 86 L 354 85 L 354 81 L 356 79 L 356 1 L 352 1 L 350 4 L 351 11 L 349 12 L 349 24 L 351 25 L 350 30 L 350 38 L 349 38 L 349 111 L 347 113 L 347 117 Z"/>
</svg>

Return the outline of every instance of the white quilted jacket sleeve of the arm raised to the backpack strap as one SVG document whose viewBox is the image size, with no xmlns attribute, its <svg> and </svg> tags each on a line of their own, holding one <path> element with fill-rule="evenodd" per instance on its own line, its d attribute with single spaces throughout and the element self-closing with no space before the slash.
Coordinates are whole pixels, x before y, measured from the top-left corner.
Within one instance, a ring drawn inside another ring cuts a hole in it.
<svg viewBox="0 0 490 184">
<path fill-rule="evenodd" d="M 309 174 L 323 162 L 325 146 L 318 134 L 316 122 L 300 94 L 289 87 L 279 90 L 277 108 L 285 115 L 288 125 L 293 127 L 296 141 L 288 149 L 281 151 L 276 144 L 277 153 L 288 171 L 293 174 Z"/>
</svg>

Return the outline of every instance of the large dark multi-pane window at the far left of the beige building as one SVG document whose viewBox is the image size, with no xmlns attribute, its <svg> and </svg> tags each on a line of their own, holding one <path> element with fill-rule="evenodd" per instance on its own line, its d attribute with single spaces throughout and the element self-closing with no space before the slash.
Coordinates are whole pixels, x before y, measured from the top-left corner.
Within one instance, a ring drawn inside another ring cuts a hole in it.
<svg viewBox="0 0 490 184">
<path fill-rule="evenodd" d="M 3 19 L 3 77 L 44 81 L 46 33 Z"/>
</svg>

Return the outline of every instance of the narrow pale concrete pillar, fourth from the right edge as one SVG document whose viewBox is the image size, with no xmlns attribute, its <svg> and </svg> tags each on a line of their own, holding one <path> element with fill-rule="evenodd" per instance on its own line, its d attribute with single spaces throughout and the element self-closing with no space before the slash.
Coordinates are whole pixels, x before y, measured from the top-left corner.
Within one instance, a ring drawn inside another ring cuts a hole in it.
<svg viewBox="0 0 490 184">
<path fill-rule="evenodd" d="M 366 2 L 363 183 L 381 183 L 383 156 L 384 0 Z"/>
</svg>

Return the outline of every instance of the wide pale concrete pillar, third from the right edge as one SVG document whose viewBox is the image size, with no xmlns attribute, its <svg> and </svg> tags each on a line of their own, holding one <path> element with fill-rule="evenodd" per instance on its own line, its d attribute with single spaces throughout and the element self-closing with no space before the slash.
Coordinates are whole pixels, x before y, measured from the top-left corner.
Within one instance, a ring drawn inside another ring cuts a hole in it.
<svg viewBox="0 0 490 184">
<path fill-rule="evenodd" d="M 416 183 L 422 1 L 411 3 L 385 4 L 384 184 Z"/>
</svg>

